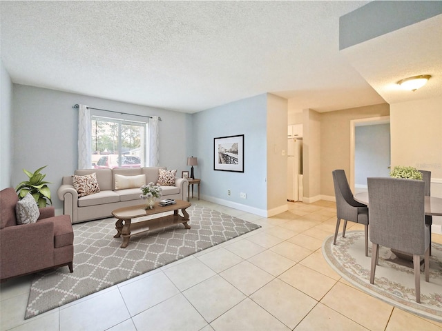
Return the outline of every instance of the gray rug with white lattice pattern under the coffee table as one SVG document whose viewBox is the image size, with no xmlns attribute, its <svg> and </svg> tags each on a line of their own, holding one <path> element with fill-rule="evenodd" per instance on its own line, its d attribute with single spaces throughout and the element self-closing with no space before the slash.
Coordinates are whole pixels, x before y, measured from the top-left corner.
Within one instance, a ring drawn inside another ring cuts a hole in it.
<svg viewBox="0 0 442 331">
<path fill-rule="evenodd" d="M 132 236 L 127 248 L 113 237 L 114 218 L 74 224 L 74 272 L 64 267 L 36 274 L 25 319 L 260 228 L 201 205 L 186 211 L 190 230 L 179 224 L 144 232 Z"/>
</svg>

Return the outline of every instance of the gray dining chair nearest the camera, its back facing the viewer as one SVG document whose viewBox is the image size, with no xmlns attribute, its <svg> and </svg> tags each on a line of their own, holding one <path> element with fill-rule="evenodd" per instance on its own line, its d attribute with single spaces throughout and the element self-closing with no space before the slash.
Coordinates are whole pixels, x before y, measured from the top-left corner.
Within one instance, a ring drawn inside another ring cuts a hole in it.
<svg viewBox="0 0 442 331">
<path fill-rule="evenodd" d="M 379 259 L 379 245 L 413 255 L 416 302 L 421 303 L 421 255 L 429 281 L 430 232 L 425 224 L 423 181 L 367 178 L 372 265 L 370 283 Z"/>
</svg>

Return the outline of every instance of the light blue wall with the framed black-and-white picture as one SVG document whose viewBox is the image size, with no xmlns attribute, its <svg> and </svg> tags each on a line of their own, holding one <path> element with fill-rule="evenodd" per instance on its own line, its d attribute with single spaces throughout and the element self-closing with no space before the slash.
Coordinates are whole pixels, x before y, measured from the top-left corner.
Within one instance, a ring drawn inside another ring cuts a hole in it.
<svg viewBox="0 0 442 331">
<path fill-rule="evenodd" d="M 213 170 L 213 139 L 238 134 L 244 134 L 244 172 Z M 267 214 L 267 94 L 193 114 L 193 142 L 204 199 Z"/>
</svg>

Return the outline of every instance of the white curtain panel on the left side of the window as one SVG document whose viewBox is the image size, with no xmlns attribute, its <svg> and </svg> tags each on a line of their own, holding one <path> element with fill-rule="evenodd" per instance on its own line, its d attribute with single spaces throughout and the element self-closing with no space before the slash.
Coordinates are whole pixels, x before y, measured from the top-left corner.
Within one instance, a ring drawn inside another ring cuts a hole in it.
<svg viewBox="0 0 442 331">
<path fill-rule="evenodd" d="M 90 137 L 90 111 L 85 105 L 78 109 L 78 168 L 92 166 L 92 137 Z"/>
</svg>

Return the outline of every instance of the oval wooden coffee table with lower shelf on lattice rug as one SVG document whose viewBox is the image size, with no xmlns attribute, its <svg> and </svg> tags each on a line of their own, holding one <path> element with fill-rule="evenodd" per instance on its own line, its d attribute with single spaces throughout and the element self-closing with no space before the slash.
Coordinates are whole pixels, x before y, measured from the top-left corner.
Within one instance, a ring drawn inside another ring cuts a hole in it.
<svg viewBox="0 0 442 331">
<path fill-rule="evenodd" d="M 129 239 L 131 239 L 131 236 L 134 234 L 140 234 L 142 232 L 151 231 L 158 228 L 165 228 L 166 226 L 175 225 L 178 223 L 183 223 L 184 228 L 190 229 L 190 225 L 187 224 L 189 221 L 189 214 L 186 212 L 186 208 L 189 208 L 191 203 L 182 200 L 176 201 L 177 203 L 175 205 L 167 205 L 166 207 L 162 207 L 158 204 L 158 202 L 155 202 L 153 209 L 148 210 L 144 209 L 146 208 L 146 205 L 133 205 L 131 207 L 114 210 L 112 214 L 118 220 L 115 223 L 117 234 L 115 234 L 113 237 L 123 237 L 123 243 L 120 247 L 126 248 L 129 243 Z M 183 216 L 178 214 L 178 210 L 181 210 Z M 173 211 L 173 214 L 157 217 L 156 219 L 146 219 L 145 221 L 132 223 L 132 219 L 137 217 L 171 211 Z"/>
</svg>

